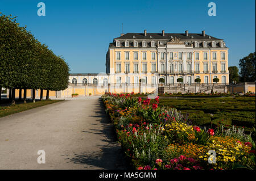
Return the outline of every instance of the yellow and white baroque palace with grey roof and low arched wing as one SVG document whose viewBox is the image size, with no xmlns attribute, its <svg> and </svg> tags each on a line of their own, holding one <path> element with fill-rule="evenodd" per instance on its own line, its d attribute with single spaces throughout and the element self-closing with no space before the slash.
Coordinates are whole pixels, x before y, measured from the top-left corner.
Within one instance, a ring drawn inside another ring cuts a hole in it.
<svg viewBox="0 0 256 181">
<path fill-rule="evenodd" d="M 101 95 L 104 92 L 153 92 L 159 78 L 164 86 L 182 90 L 195 87 L 195 79 L 210 85 L 229 82 L 228 48 L 223 39 L 202 33 L 126 33 L 114 38 L 106 53 L 106 73 L 71 74 L 70 89 L 63 95 Z M 162 85 L 163 86 L 163 85 Z M 82 88 L 83 87 L 83 88 Z M 84 87 L 86 87 L 84 89 Z M 96 88 L 97 89 L 96 89 Z M 197 88 L 200 89 L 200 86 Z"/>
</svg>

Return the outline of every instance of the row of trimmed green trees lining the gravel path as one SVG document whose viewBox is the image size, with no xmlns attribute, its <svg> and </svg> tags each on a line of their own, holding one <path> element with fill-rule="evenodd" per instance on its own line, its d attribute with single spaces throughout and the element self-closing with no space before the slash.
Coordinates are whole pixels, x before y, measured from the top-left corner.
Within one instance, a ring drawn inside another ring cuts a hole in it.
<svg viewBox="0 0 256 181">
<path fill-rule="evenodd" d="M 69 67 L 64 59 L 56 56 L 45 44 L 41 44 L 26 27 L 20 27 L 16 17 L 0 12 L 0 89 L 10 90 L 9 98 L 15 104 L 15 89 L 26 103 L 26 90 L 40 89 L 60 91 L 67 89 Z M 1 99 L 1 96 L 0 96 Z"/>
</svg>

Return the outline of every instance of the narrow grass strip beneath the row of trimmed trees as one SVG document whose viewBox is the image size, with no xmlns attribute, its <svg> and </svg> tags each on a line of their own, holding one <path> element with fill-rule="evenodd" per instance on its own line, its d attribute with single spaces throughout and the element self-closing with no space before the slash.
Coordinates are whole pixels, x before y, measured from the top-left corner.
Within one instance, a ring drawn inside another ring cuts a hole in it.
<svg viewBox="0 0 256 181">
<path fill-rule="evenodd" d="M 14 106 L 4 106 L 0 107 L 0 117 L 8 116 L 13 113 L 18 113 L 26 110 L 30 110 L 32 108 L 45 106 L 47 104 L 52 104 L 56 102 L 60 102 L 62 100 L 41 100 L 35 103 L 27 103 L 27 104 L 16 104 Z"/>
</svg>

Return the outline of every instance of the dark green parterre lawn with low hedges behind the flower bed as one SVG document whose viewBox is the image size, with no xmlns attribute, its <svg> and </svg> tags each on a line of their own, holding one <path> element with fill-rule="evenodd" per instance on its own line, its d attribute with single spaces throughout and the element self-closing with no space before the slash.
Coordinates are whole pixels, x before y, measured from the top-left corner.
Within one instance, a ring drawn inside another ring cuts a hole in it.
<svg viewBox="0 0 256 181">
<path fill-rule="evenodd" d="M 174 107 L 187 114 L 193 125 L 216 127 L 222 123 L 226 127 L 245 127 L 247 132 L 255 127 L 255 97 L 163 98 L 159 106 Z"/>
</svg>

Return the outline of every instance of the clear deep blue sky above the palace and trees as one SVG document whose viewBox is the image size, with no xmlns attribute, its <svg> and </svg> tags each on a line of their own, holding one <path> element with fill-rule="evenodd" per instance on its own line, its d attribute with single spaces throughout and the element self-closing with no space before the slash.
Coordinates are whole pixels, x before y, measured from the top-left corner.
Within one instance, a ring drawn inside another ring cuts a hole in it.
<svg viewBox="0 0 256 181">
<path fill-rule="evenodd" d="M 38 16 L 38 3 L 46 16 Z M 216 16 L 208 16 L 214 2 Z M 68 62 L 71 73 L 105 72 L 109 43 L 122 32 L 201 33 L 224 39 L 229 66 L 255 52 L 255 0 L 59 1 L 0 0 L 0 12 L 18 16 L 35 37 Z"/>
</svg>

